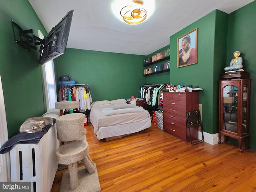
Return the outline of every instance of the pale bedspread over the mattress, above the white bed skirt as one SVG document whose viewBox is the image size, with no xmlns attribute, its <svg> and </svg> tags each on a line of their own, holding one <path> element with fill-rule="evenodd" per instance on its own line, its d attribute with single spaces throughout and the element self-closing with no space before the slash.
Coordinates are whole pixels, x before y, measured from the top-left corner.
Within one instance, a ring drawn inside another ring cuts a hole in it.
<svg viewBox="0 0 256 192">
<path fill-rule="evenodd" d="M 121 113 L 121 114 L 109 114 L 106 116 L 104 111 L 110 111 L 110 113 L 116 113 L 112 111 L 118 111 L 118 110 L 112 110 L 111 105 L 102 105 L 102 106 L 95 106 L 91 108 L 90 112 L 90 122 L 92 123 L 92 126 L 94 127 L 94 133 L 97 133 L 100 127 L 108 127 L 108 126 L 115 126 L 120 124 L 128 124 L 132 122 L 139 122 L 141 120 L 147 119 L 150 117 L 150 114 L 147 110 L 144 110 L 142 107 L 136 107 L 136 108 L 127 108 L 129 109 L 136 109 L 134 112 L 128 112 L 128 113 Z M 121 111 L 127 111 L 126 110 L 119 110 Z M 118 113 L 118 112 L 117 112 Z"/>
</svg>

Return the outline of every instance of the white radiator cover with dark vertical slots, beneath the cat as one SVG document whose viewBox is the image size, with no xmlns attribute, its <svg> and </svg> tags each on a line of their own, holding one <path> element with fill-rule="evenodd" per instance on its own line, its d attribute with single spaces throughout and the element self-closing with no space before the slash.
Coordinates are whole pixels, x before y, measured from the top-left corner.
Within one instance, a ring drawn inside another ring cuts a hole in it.
<svg viewBox="0 0 256 192">
<path fill-rule="evenodd" d="M 32 192 L 50 192 L 58 168 L 56 150 L 59 147 L 56 124 L 38 144 L 15 145 L 10 151 L 11 181 L 32 182 Z"/>
</svg>

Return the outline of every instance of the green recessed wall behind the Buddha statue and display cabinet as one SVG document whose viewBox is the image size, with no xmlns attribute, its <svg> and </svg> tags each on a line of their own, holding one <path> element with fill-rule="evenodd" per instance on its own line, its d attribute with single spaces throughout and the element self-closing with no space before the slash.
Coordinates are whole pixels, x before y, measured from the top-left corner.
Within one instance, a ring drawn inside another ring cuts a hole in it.
<svg viewBox="0 0 256 192">
<path fill-rule="evenodd" d="M 256 1 L 229 14 L 228 21 L 228 48 L 226 63 L 233 58 L 233 52 L 241 52 L 243 68 L 250 73 L 250 139 L 249 148 L 256 150 Z M 237 141 L 235 141 L 237 143 Z"/>
</svg>

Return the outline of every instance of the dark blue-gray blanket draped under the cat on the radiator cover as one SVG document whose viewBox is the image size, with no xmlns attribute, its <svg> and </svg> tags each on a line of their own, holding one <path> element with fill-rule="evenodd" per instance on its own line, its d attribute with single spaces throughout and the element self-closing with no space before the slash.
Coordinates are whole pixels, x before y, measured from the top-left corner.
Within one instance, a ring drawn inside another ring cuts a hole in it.
<svg viewBox="0 0 256 192">
<path fill-rule="evenodd" d="M 53 124 L 55 124 L 56 119 L 53 118 Z M 12 148 L 16 144 L 38 144 L 40 142 L 40 139 L 48 132 L 48 130 L 52 127 L 52 125 L 46 125 L 44 126 L 43 130 L 41 132 L 35 132 L 35 133 L 18 133 L 12 138 L 10 138 L 8 141 L 6 141 L 0 148 L 0 154 L 4 154 L 12 150 Z"/>
</svg>

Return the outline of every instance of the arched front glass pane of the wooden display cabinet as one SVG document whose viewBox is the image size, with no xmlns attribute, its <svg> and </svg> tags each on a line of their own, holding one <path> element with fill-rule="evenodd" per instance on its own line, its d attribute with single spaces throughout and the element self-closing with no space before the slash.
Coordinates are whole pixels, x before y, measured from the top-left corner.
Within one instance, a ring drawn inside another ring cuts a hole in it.
<svg viewBox="0 0 256 192">
<path fill-rule="evenodd" d="M 238 133 L 238 88 L 228 85 L 223 88 L 223 130 Z"/>
</svg>

